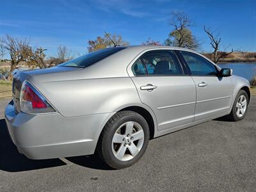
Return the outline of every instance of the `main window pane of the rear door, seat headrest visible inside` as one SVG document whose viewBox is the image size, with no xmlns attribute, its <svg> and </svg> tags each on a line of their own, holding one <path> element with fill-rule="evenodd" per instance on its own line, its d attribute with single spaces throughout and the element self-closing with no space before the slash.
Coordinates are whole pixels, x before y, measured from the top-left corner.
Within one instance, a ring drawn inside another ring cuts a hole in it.
<svg viewBox="0 0 256 192">
<path fill-rule="evenodd" d="M 150 51 L 142 56 L 148 75 L 182 74 L 179 61 L 172 51 Z"/>
</svg>

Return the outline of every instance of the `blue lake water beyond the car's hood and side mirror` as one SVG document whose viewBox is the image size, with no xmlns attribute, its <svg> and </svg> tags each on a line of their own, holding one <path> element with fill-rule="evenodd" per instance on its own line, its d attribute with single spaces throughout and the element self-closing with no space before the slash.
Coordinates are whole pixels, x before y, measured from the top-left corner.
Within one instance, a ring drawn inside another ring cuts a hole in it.
<svg viewBox="0 0 256 192">
<path fill-rule="evenodd" d="M 249 81 L 256 76 L 256 63 L 221 63 L 221 68 L 232 68 L 233 74 Z"/>
</svg>

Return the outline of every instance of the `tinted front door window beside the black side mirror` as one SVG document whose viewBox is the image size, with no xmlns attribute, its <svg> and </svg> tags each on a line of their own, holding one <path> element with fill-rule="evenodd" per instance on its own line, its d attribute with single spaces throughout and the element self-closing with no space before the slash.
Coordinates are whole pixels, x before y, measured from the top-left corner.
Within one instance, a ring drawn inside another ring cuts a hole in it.
<svg viewBox="0 0 256 192">
<path fill-rule="evenodd" d="M 194 76 L 216 76 L 216 67 L 210 62 L 195 54 L 188 51 L 180 51 L 184 60 L 188 64 L 191 74 Z"/>
</svg>

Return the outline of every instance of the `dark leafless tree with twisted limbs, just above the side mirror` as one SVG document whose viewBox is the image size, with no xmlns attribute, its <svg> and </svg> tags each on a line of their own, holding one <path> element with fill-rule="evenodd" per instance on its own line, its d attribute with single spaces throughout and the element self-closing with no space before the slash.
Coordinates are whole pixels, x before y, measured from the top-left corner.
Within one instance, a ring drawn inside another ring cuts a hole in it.
<svg viewBox="0 0 256 192">
<path fill-rule="evenodd" d="M 220 42 L 221 42 L 221 38 L 219 37 L 219 35 L 214 34 L 214 32 L 211 30 L 211 28 L 206 28 L 204 26 L 204 31 L 207 34 L 207 36 L 210 39 L 210 44 L 211 47 L 214 51 L 212 51 L 211 55 L 212 60 L 214 61 L 214 63 L 218 63 L 218 61 L 220 61 L 221 58 L 225 58 L 227 57 L 229 54 L 232 54 L 232 52 L 234 52 L 234 50 L 232 49 L 230 52 L 227 52 L 226 49 L 224 49 L 224 51 L 220 51 Z"/>
</svg>

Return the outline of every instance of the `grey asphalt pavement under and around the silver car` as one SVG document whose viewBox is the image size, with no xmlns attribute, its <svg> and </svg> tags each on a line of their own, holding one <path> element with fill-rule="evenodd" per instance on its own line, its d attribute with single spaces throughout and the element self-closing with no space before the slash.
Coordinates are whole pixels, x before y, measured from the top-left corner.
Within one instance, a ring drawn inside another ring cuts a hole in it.
<svg viewBox="0 0 256 192">
<path fill-rule="evenodd" d="M 0 191 L 256 191 L 256 97 L 243 121 L 212 120 L 151 140 L 124 170 L 93 156 L 29 160 L 3 119 L 0 142 Z"/>
</svg>

